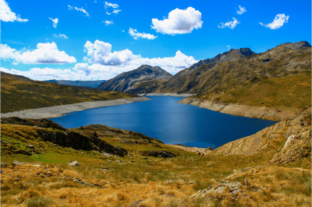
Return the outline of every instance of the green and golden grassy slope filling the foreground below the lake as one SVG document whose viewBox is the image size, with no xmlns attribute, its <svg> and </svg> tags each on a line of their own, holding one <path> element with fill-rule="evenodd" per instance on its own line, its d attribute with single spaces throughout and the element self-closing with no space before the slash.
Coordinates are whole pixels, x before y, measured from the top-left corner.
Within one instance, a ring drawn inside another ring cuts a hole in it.
<svg viewBox="0 0 312 207">
<path fill-rule="evenodd" d="M 67 131 L 89 137 L 96 133 L 98 138 L 128 151 L 124 157 L 106 157 L 98 150 L 62 147 L 38 136 L 42 130 L 56 133 L 60 129 L 1 124 L 1 141 L 7 143 L 1 143 L 1 162 L 9 164 L 1 165 L 1 205 L 311 206 L 310 156 L 269 166 L 277 148 L 265 150 L 265 156 L 202 156 L 102 125 Z M 33 155 L 16 153 L 19 149 L 29 151 L 27 144 L 35 146 Z M 147 156 L 150 151 L 172 152 L 176 157 Z M 11 168 L 14 160 L 29 164 Z M 75 160 L 80 166 L 66 165 Z M 235 182 L 238 192 L 226 187 L 221 193 L 190 197 L 197 191 Z"/>
</svg>

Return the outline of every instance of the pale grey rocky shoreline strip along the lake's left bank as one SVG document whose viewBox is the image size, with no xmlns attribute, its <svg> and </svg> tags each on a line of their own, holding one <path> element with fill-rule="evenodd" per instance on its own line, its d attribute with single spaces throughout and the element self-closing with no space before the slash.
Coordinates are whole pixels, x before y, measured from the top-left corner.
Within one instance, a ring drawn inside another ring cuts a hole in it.
<svg viewBox="0 0 312 207">
<path fill-rule="evenodd" d="M 98 108 L 103 106 L 117 106 L 128 103 L 134 103 L 139 101 L 148 101 L 150 98 L 147 97 L 134 97 L 134 98 L 121 98 L 116 100 L 108 101 L 87 101 L 75 104 L 66 104 L 60 106 L 49 106 L 37 109 L 27 109 L 21 111 L 13 111 L 7 113 L 1 113 L 1 117 L 17 116 L 22 119 L 43 119 L 43 118 L 54 118 L 65 115 L 66 113 L 74 111 L 83 111 L 86 109 Z"/>
</svg>

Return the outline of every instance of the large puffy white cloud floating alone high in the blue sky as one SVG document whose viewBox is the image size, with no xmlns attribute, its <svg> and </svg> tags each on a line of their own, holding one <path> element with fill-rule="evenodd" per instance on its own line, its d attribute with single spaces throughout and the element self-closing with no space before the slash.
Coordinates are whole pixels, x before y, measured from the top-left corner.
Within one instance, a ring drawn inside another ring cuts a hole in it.
<svg viewBox="0 0 312 207">
<path fill-rule="evenodd" d="M 191 33 L 193 29 L 202 28 L 202 13 L 193 7 L 174 9 L 163 20 L 152 19 L 151 27 L 156 32 L 168 35 Z"/>
</svg>

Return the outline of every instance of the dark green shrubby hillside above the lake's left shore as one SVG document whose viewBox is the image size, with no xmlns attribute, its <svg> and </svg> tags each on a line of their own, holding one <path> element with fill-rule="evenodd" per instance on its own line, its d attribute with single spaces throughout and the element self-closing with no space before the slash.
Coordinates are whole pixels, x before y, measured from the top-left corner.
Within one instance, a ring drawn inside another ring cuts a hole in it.
<svg viewBox="0 0 312 207">
<path fill-rule="evenodd" d="M 23 76 L 4 72 L 1 72 L 0 81 L 1 113 L 85 101 L 138 97 L 134 94 L 122 92 L 34 81 Z"/>
</svg>

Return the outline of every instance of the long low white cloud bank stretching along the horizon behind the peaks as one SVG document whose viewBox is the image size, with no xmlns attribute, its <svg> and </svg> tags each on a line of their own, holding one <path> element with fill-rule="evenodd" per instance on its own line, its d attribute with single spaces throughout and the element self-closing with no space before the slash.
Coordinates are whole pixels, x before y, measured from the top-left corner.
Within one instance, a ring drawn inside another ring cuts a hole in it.
<svg viewBox="0 0 312 207">
<path fill-rule="evenodd" d="M 175 74 L 184 68 L 198 62 L 192 56 L 187 56 L 177 51 L 173 57 L 142 58 L 134 55 L 129 49 L 111 52 L 112 45 L 99 40 L 94 43 L 87 41 L 84 45 L 87 52 L 85 60 L 88 63 L 77 63 L 73 68 L 31 68 L 28 71 L 1 68 L 1 71 L 11 74 L 23 75 L 34 80 L 109 80 L 120 73 L 139 68 L 143 64 L 159 66 L 171 74 Z M 2 47 L 2 45 L 1 45 Z M 11 54 L 5 53 L 8 58 L 14 55 L 15 49 L 7 47 Z M 1 48 L 1 58 L 2 58 Z M 76 61 L 75 61 L 76 62 Z M 115 64 L 119 62 L 119 64 Z"/>
</svg>

